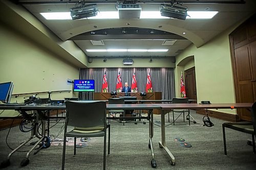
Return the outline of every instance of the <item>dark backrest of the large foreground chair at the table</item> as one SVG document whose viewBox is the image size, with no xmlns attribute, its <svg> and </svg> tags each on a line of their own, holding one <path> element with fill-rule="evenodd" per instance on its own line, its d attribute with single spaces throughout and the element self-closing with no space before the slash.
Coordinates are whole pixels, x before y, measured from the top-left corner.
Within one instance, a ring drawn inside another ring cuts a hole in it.
<svg viewBox="0 0 256 170">
<path fill-rule="evenodd" d="M 66 122 L 69 126 L 106 127 L 106 103 L 103 101 L 66 101 L 66 109 Z"/>
</svg>

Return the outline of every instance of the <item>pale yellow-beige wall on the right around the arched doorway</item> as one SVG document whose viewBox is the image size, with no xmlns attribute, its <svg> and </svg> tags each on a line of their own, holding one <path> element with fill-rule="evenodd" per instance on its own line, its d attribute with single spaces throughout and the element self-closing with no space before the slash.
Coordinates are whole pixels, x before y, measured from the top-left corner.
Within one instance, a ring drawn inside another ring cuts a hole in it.
<svg viewBox="0 0 256 170">
<path fill-rule="evenodd" d="M 229 50 L 228 34 L 234 28 L 230 28 L 223 32 L 215 39 L 209 41 L 205 45 L 196 48 L 190 45 L 186 50 L 177 57 L 176 64 L 187 56 L 193 56 L 195 59 L 196 83 L 197 83 L 197 99 L 200 101 L 210 101 L 211 103 L 234 103 L 234 85 L 231 67 L 231 57 Z M 183 66 L 190 67 L 190 62 Z M 179 84 L 179 66 L 176 68 L 175 74 Z M 176 86 L 176 95 L 180 93 L 179 86 Z M 228 113 L 235 113 L 234 110 L 218 110 Z"/>
</svg>

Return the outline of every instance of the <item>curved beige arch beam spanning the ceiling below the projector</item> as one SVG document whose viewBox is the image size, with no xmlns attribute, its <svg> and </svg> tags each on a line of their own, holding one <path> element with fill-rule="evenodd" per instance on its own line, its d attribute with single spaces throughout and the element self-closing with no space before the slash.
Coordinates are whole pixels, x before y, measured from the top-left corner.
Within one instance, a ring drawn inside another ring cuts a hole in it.
<svg viewBox="0 0 256 170">
<path fill-rule="evenodd" d="M 94 20 L 95 21 L 95 20 Z M 161 22 L 162 21 L 162 22 Z M 164 21 L 164 22 L 163 22 Z M 129 25 L 127 25 L 129 23 Z M 97 28 L 94 28 L 94 26 L 97 26 Z M 159 28 L 161 26 L 161 28 Z M 174 33 L 177 35 L 180 35 L 188 40 L 190 40 L 192 43 L 194 43 L 197 47 L 200 47 L 205 42 L 202 38 L 200 38 L 198 35 L 196 35 L 193 32 L 190 32 L 188 30 L 185 30 L 183 28 L 179 28 L 173 25 L 166 24 L 166 20 L 158 19 L 154 22 L 148 21 L 148 19 L 143 20 L 128 20 L 128 19 L 108 19 L 108 20 L 97 20 L 96 22 L 88 22 L 87 24 L 84 24 L 81 27 L 76 27 L 70 30 L 67 30 L 65 32 L 62 32 L 59 37 L 66 41 L 70 39 L 71 37 L 74 37 L 76 35 L 100 30 L 100 29 L 107 29 L 107 28 L 122 28 L 122 27 L 137 27 L 137 28 L 147 28 L 147 29 L 155 29 L 155 30 L 161 30 L 166 31 L 170 33 Z M 185 32 L 186 34 L 182 34 Z"/>
</svg>

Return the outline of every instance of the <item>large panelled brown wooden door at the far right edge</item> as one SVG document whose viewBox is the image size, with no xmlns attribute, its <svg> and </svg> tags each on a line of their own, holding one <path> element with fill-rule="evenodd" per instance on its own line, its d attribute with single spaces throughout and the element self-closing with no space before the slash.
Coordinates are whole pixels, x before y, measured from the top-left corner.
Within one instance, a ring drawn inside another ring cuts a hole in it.
<svg viewBox="0 0 256 170">
<path fill-rule="evenodd" d="M 231 60 L 237 103 L 256 101 L 256 14 L 230 35 Z M 239 118 L 251 121 L 246 109 L 237 109 Z"/>
</svg>

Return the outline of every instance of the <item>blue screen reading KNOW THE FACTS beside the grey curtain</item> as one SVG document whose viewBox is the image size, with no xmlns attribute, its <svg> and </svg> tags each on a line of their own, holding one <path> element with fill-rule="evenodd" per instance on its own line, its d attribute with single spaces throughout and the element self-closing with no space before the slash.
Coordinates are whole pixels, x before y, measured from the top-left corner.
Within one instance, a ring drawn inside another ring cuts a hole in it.
<svg viewBox="0 0 256 170">
<path fill-rule="evenodd" d="M 94 80 L 74 80 L 74 91 L 94 91 Z"/>
</svg>

